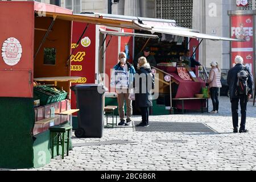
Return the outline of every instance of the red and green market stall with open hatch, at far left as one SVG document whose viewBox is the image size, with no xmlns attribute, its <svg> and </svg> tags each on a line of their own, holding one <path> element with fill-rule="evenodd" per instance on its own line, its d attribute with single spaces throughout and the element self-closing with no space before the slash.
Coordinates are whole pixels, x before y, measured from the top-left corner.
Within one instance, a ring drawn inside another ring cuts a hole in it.
<svg viewBox="0 0 256 182">
<path fill-rule="evenodd" d="M 82 69 L 70 67 L 71 60 L 75 63 L 83 56 L 71 56 L 72 22 L 139 26 L 29 1 L 1 1 L 0 12 L 0 168 L 41 167 L 53 157 L 49 127 L 71 123 L 63 114 L 71 113 L 71 81 L 86 78 L 71 75 L 71 69 Z M 84 40 L 84 46 L 87 43 Z"/>
</svg>

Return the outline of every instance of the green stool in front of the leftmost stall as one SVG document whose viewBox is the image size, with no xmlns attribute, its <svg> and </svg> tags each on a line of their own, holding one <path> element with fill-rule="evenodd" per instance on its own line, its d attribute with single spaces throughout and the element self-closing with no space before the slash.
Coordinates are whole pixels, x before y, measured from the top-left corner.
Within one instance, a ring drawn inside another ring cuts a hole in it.
<svg viewBox="0 0 256 182">
<path fill-rule="evenodd" d="M 51 150 L 52 150 L 52 159 L 53 159 L 53 148 L 56 145 L 57 146 L 57 155 L 59 155 L 59 146 L 62 147 L 62 159 L 64 159 L 64 146 L 65 143 L 67 143 L 67 156 L 68 156 L 68 150 L 69 150 L 69 133 L 72 129 L 72 126 L 69 124 L 65 125 L 58 125 L 58 126 L 52 126 L 49 128 L 51 132 Z M 65 133 L 68 131 L 68 136 L 65 138 Z M 55 136 L 56 134 L 56 136 Z M 55 142 L 55 138 L 57 138 L 57 141 Z"/>
</svg>

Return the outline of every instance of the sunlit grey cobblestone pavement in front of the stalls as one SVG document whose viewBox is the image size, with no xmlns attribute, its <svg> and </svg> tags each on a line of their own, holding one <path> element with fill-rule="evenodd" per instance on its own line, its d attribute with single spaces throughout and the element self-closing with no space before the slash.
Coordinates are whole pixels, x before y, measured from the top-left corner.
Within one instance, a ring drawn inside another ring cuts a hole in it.
<svg viewBox="0 0 256 182">
<path fill-rule="evenodd" d="M 150 116 L 150 121 L 204 123 L 217 133 L 145 133 L 134 131 L 133 126 L 104 129 L 101 139 L 73 137 L 73 144 L 88 142 L 88 146 L 74 147 L 64 160 L 56 157 L 43 168 L 30 170 L 255 170 L 256 107 L 249 102 L 250 133 L 246 134 L 232 133 L 230 108 L 229 98 L 221 97 L 219 114 Z M 97 145 L 110 140 L 126 143 Z"/>
</svg>

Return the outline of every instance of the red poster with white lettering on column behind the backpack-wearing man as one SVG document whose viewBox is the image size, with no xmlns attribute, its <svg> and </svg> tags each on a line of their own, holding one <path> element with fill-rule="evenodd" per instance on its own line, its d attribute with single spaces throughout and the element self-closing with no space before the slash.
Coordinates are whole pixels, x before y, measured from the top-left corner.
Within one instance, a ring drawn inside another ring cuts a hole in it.
<svg viewBox="0 0 256 182">
<path fill-rule="evenodd" d="M 246 64 L 253 73 L 254 54 L 253 54 L 253 16 L 231 16 L 231 36 L 234 39 L 243 40 L 243 42 L 232 42 L 232 64 L 235 65 L 236 56 L 242 56 Z"/>
</svg>

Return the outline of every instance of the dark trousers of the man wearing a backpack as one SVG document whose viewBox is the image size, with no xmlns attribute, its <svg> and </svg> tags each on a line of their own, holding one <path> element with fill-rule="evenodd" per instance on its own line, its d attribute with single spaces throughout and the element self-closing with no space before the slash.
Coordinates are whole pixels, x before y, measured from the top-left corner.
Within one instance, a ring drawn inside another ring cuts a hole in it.
<svg viewBox="0 0 256 182">
<path fill-rule="evenodd" d="M 245 123 L 246 123 L 246 107 L 247 107 L 247 96 L 242 95 L 238 98 L 232 98 L 231 105 L 232 105 L 232 119 L 233 119 L 233 126 L 234 129 L 238 127 L 238 104 L 240 101 L 241 107 L 241 124 L 240 130 L 245 130 Z"/>
</svg>

